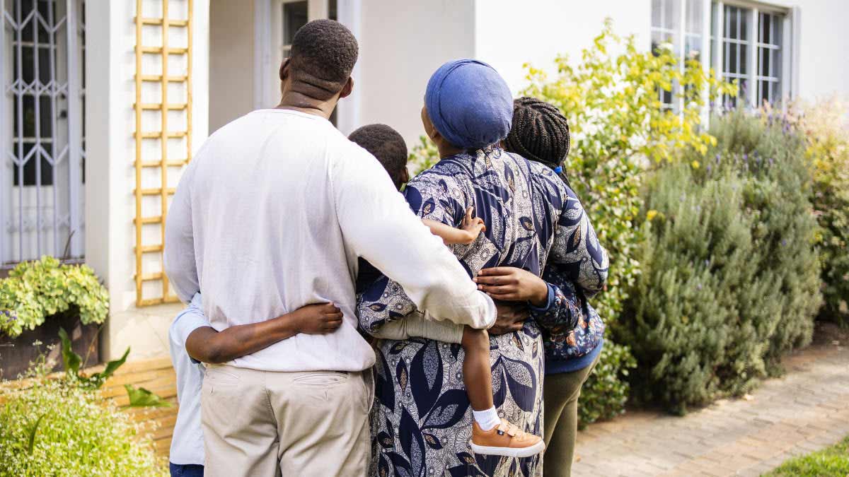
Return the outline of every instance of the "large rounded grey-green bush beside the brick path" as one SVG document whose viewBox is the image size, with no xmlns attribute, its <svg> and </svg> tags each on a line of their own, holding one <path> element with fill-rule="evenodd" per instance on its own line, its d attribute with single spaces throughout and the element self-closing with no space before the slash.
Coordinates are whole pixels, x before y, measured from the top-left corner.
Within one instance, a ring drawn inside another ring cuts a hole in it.
<svg viewBox="0 0 849 477">
<path fill-rule="evenodd" d="M 676 412 L 776 371 L 810 341 L 820 304 L 801 137 L 742 113 L 711 133 L 710 159 L 689 154 L 646 184 L 644 269 L 616 334 L 639 395 Z"/>
</svg>

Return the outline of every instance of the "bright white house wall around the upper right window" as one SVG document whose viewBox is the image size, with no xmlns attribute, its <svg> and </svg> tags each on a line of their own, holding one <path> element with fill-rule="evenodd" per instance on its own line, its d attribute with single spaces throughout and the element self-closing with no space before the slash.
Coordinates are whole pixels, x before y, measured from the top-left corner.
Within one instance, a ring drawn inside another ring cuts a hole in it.
<svg viewBox="0 0 849 477">
<path fill-rule="evenodd" d="M 799 27 L 794 29 L 800 33 L 794 76 L 799 81 L 794 87 L 797 96 L 849 96 L 849 31 L 841 20 L 849 17 L 849 2 L 773 0 L 762 4 L 787 8 L 789 13 L 798 8 Z M 633 34 L 638 46 L 650 48 L 651 0 L 478 0 L 475 58 L 495 67 L 517 93 L 527 84 L 524 63 L 554 72 L 553 61 L 559 53 L 567 54 L 571 62 L 580 61 L 581 50 L 592 44 L 607 17 L 617 34 Z M 784 51 L 790 53 L 790 45 Z"/>
</svg>

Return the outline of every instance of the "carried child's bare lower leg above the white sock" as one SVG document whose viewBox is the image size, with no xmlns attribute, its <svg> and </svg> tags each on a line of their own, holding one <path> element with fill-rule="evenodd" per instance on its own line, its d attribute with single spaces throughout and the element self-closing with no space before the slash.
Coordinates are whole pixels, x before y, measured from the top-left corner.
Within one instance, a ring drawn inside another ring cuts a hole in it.
<svg viewBox="0 0 849 477">
<path fill-rule="evenodd" d="M 492 369 L 489 363 L 489 334 L 486 329 L 464 327 L 463 382 L 473 411 L 486 411 L 492 403 Z"/>
</svg>

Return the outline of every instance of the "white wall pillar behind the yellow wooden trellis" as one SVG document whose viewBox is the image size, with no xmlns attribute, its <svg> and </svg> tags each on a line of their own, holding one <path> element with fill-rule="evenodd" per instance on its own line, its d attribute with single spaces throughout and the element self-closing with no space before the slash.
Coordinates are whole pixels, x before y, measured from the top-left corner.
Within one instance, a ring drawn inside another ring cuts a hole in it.
<svg viewBox="0 0 849 477">
<path fill-rule="evenodd" d="M 168 353 L 168 326 L 182 305 L 135 306 L 135 2 L 89 2 L 86 14 L 86 262 L 110 292 L 101 349 L 105 359 L 121 356 L 127 346 L 132 359 L 163 356 Z M 192 20 L 196 151 L 206 138 L 209 118 L 208 2 L 194 0 Z"/>
</svg>

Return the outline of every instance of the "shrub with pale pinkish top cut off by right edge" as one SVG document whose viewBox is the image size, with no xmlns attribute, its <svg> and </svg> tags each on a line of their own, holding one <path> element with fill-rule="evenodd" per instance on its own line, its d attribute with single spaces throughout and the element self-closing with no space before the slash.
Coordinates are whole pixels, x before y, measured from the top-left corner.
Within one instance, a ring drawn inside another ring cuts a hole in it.
<svg viewBox="0 0 849 477">
<path fill-rule="evenodd" d="M 821 227 L 824 306 L 820 317 L 849 326 L 849 104 L 801 104 L 798 127 L 813 166 L 813 208 Z"/>
</svg>

